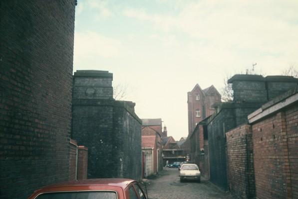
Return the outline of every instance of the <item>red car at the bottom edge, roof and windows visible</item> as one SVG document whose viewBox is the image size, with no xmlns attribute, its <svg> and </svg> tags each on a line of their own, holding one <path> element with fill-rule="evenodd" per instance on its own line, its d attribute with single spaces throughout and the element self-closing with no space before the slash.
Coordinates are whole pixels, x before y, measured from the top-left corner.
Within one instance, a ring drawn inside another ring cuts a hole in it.
<svg viewBox="0 0 298 199">
<path fill-rule="evenodd" d="M 130 179 L 87 179 L 54 184 L 35 191 L 28 199 L 147 199 Z"/>
</svg>

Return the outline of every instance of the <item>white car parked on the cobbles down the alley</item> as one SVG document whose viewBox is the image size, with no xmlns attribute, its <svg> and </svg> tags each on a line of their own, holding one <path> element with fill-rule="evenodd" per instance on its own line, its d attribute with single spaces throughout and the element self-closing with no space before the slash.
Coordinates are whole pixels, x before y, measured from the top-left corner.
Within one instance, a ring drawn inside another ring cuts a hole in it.
<svg viewBox="0 0 298 199">
<path fill-rule="evenodd" d="M 198 165 L 185 163 L 181 166 L 180 170 L 180 182 L 184 180 L 195 180 L 201 182 L 201 172 Z"/>
</svg>

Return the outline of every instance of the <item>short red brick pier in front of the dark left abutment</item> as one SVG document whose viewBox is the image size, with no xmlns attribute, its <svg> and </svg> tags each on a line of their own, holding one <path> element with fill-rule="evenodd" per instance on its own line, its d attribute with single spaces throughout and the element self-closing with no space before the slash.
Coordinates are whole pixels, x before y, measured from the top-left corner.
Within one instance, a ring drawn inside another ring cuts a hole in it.
<svg viewBox="0 0 298 199">
<path fill-rule="evenodd" d="M 77 179 L 87 179 L 88 167 L 88 148 L 85 146 L 78 146 L 78 168 Z"/>
</svg>

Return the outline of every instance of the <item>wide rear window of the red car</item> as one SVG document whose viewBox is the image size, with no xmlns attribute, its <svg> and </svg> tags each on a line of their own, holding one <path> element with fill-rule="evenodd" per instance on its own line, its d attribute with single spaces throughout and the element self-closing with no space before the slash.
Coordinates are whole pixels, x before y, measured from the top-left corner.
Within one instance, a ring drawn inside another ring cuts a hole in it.
<svg viewBox="0 0 298 199">
<path fill-rule="evenodd" d="M 39 195 L 36 199 L 117 199 L 115 192 L 56 192 Z"/>
</svg>

